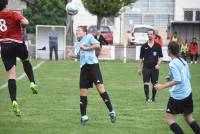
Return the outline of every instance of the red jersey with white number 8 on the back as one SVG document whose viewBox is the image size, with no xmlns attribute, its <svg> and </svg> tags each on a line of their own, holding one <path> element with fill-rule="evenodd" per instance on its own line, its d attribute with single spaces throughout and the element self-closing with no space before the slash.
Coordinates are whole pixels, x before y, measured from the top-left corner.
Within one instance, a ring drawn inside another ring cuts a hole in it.
<svg viewBox="0 0 200 134">
<path fill-rule="evenodd" d="M 0 42 L 22 42 L 20 20 L 24 17 L 14 11 L 0 12 Z"/>
</svg>

